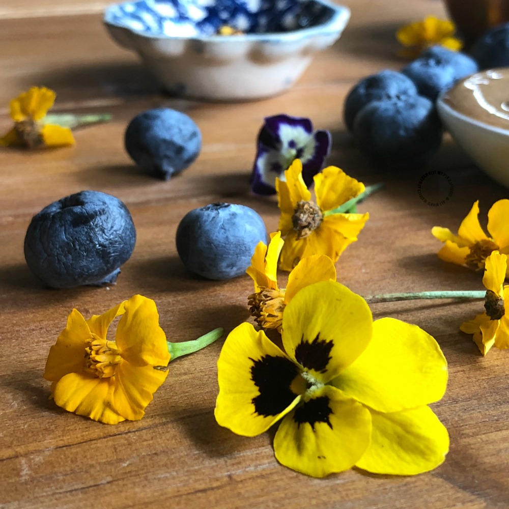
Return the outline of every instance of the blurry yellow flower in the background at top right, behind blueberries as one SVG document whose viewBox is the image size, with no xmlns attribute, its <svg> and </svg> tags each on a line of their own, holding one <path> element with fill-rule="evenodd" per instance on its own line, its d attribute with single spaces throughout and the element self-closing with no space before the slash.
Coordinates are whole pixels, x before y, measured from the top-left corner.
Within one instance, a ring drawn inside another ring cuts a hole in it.
<svg viewBox="0 0 509 509">
<path fill-rule="evenodd" d="M 407 47 L 401 51 L 401 56 L 413 59 L 426 48 L 436 44 L 453 51 L 459 51 L 463 47 L 463 43 L 454 37 L 455 32 L 456 26 L 452 21 L 427 16 L 422 21 L 401 27 L 396 32 L 396 38 L 403 46 Z"/>
</svg>

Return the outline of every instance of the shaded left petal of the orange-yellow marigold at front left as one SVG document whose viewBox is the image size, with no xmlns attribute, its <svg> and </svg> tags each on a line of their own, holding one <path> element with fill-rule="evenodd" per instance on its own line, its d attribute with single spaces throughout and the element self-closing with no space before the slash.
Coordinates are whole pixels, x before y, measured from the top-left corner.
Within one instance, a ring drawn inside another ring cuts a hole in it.
<svg viewBox="0 0 509 509">
<path fill-rule="evenodd" d="M 91 339 L 87 322 L 78 310 L 73 309 L 67 318 L 66 328 L 49 350 L 44 378 L 56 382 L 69 373 L 80 373 L 87 341 Z"/>
</svg>

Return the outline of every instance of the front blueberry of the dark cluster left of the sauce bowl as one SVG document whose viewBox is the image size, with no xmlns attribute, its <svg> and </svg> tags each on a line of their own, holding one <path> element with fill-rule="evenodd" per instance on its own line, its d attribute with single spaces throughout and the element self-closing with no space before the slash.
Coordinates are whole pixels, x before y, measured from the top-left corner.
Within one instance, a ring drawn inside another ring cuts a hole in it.
<svg viewBox="0 0 509 509">
<path fill-rule="evenodd" d="M 398 169 L 425 164 L 440 146 L 442 127 L 434 103 L 417 95 L 367 104 L 355 119 L 354 137 L 376 165 Z"/>
</svg>

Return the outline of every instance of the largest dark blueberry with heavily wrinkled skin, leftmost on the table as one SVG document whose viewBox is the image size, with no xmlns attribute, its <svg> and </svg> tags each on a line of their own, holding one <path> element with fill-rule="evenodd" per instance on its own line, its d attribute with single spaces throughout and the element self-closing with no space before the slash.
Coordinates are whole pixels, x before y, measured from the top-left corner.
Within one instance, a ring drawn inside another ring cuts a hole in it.
<svg viewBox="0 0 509 509">
<path fill-rule="evenodd" d="M 24 251 L 30 270 L 53 288 L 115 284 L 134 249 L 136 231 L 115 196 L 81 191 L 32 218 Z"/>
</svg>

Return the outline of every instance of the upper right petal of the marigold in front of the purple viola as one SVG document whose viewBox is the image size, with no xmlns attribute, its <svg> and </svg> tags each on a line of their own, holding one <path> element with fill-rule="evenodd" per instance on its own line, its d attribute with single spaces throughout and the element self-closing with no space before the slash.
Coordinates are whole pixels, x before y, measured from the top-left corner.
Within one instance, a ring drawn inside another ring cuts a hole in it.
<svg viewBox="0 0 509 509">
<path fill-rule="evenodd" d="M 336 166 L 324 168 L 313 180 L 317 205 L 322 211 L 335 209 L 365 190 L 362 182 L 349 177 Z"/>
</svg>

